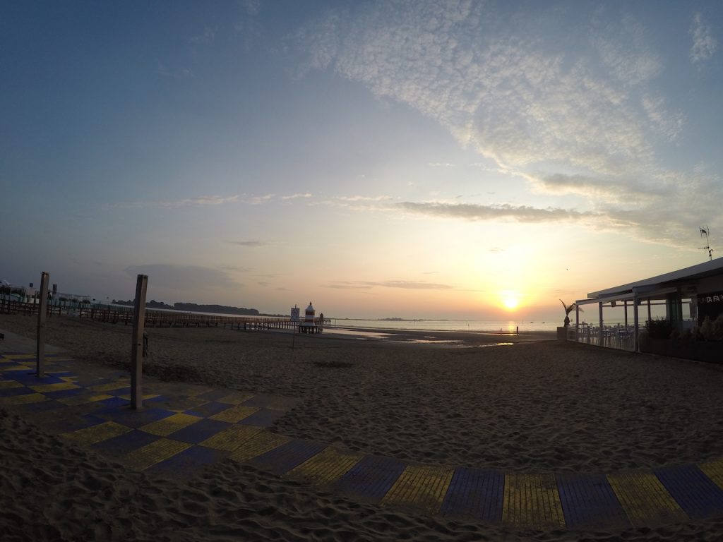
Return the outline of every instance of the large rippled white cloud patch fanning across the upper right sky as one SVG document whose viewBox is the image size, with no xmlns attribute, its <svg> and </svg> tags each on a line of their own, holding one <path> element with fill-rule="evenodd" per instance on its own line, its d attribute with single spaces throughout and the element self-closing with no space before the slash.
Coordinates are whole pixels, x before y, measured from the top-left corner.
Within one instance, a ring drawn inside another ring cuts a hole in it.
<svg viewBox="0 0 723 542">
<path fill-rule="evenodd" d="M 550 23 L 559 26 L 554 42 L 536 34 L 542 16 L 505 16 L 482 2 L 380 1 L 332 10 L 294 38 L 309 69 L 415 108 L 498 165 L 555 161 L 613 173 L 649 161 L 630 87 L 661 64 L 641 24 L 622 17 L 603 26 L 591 16 L 595 37 L 581 46 L 565 39 L 574 33 L 563 20 Z"/>
</svg>

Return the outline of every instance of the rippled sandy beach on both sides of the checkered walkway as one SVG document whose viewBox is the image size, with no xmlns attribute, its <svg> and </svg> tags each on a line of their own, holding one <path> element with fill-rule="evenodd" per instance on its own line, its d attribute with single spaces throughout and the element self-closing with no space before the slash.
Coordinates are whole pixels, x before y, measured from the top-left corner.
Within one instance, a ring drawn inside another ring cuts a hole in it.
<svg viewBox="0 0 723 542">
<path fill-rule="evenodd" d="M 0 315 L 0 330 L 26 337 L 35 324 Z M 719 366 L 544 334 L 147 332 L 148 377 L 293 397 L 296 406 L 273 431 L 353 452 L 513 473 L 611 473 L 723 455 Z M 122 368 L 130 334 L 122 324 L 52 317 L 46 340 L 82 363 Z M 515 533 L 354 502 L 228 461 L 189 481 L 163 479 L 62 442 L 11 409 L 0 409 L 0 423 L 7 540 L 723 537 L 720 519 L 617 533 Z"/>
</svg>

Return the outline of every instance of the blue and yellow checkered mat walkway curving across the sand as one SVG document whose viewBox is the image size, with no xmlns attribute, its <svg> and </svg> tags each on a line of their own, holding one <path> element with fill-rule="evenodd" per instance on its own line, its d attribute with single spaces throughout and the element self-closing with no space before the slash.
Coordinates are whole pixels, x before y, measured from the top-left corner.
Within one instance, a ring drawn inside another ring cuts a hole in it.
<svg viewBox="0 0 723 542">
<path fill-rule="evenodd" d="M 127 373 L 88 377 L 73 366 L 72 359 L 48 355 L 46 377 L 38 379 L 33 354 L 0 354 L 0 407 L 135 470 L 192 476 L 228 458 L 352 499 L 524 530 L 655 526 L 723 515 L 723 460 L 607 475 L 417 465 L 269 431 L 294 405 L 283 397 L 148 384 L 144 408 L 132 410 Z"/>
</svg>

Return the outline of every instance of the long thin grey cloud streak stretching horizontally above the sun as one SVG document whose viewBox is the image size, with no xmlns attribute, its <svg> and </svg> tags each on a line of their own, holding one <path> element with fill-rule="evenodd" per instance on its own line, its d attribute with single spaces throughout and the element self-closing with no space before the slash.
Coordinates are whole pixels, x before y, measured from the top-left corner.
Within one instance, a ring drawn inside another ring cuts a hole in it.
<svg viewBox="0 0 723 542">
<path fill-rule="evenodd" d="M 461 218 L 463 220 L 515 220 L 523 223 L 558 222 L 571 219 L 592 218 L 594 212 L 578 212 L 575 210 L 555 209 L 549 207 L 540 209 L 526 205 L 476 205 L 465 203 L 438 203 L 438 202 L 401 202 L 398 209 L 440 218 Z"/>
</svg>

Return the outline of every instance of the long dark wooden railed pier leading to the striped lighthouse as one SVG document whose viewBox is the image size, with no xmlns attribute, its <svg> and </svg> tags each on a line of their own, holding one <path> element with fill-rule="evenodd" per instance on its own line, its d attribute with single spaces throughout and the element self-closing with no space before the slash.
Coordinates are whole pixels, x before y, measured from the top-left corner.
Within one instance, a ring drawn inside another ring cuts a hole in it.
<svg viewBox="0 0 723 542">
<path fill-rule="evenodd" d="M 0 314 L 38 314 L 38 304 L 0 299 Z M 48 316 L 73 314 L 79 318 L 108 322 L 111 324 L 133 324 L 133 310 L 116 307 L 68 308 L 48 305 Z M 325 319 L 328 322 L 328 319 Z M 145 311 L 145 327 L 223 327 L 232 330 L 302 330 L 299 322 L 283 317 L 243 317 L 218 314 L 197 314 L 193 312 Z M 312 332 L 320 332 L 324 322 L 316 318 Z"/>
</svg>

